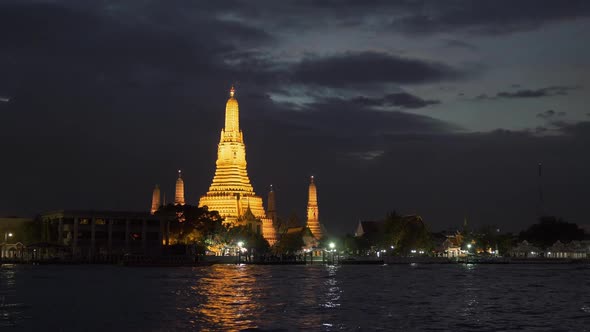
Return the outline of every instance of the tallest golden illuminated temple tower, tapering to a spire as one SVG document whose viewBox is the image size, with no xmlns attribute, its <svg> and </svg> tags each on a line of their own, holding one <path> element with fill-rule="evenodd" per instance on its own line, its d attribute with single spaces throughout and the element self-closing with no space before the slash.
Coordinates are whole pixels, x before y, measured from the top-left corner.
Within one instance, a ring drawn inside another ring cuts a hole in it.
<svg viewBox="0 0 590 332">
<path fill-rule="evenodd" d="M 240 130 L 240 110 L 232 87 L 225 105 L 225 127 L 217 145 L 215 176 L 199 206 L 217 211 L 226 222 L 235 223 L 249 206 L 256 218 L 266 218 L 262 198 L 256 196 L 246 170 L 246 146 Z"/>
</svg>

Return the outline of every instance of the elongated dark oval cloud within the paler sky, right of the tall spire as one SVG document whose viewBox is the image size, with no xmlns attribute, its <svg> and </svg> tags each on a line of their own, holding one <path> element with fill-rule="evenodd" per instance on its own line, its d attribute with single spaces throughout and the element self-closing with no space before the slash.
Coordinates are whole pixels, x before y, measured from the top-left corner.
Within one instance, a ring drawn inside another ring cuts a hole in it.
<svg viewBox="0 0 590 332">
<path fill-rule="evenodd" d="M 331 87 L 375 83 L 420 84 L 454 80 L 465 75 L 443 63 L 379 52 L 308 57 L 291 70 L 294 82 Z"/>
</svg>

